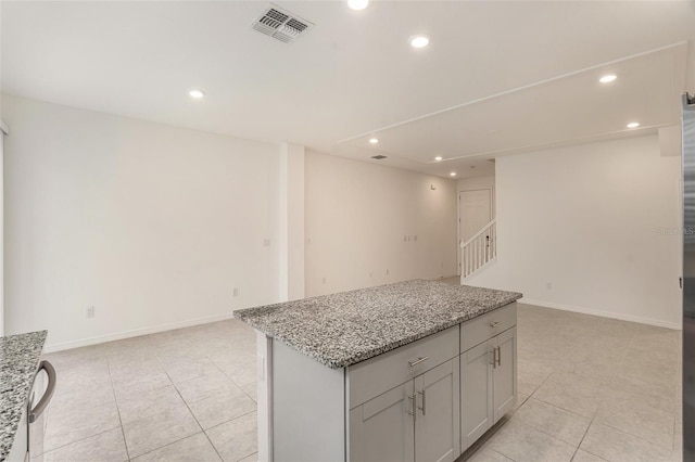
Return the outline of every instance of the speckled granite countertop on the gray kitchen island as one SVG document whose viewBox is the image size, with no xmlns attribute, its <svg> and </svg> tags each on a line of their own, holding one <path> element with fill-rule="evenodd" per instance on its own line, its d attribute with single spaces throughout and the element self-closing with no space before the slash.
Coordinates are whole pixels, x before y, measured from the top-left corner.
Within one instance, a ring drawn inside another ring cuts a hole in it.
<svg viewBox="0 0 695 462">
<path fill-rule="evenodd" d="M 235 311 L 331 369 L 345 368 L 510 304 L 521 294 L 415 280 Z"/>
</svg>

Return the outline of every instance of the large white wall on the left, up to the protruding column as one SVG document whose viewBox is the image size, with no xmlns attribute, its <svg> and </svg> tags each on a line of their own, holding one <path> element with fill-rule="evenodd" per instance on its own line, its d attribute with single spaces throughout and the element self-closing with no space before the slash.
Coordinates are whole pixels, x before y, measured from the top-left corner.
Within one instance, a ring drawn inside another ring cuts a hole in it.
<svg viewBox="0 0 695 462">
<path fill-rule="evenodd" d="M 50 350 L 277 301 L 279 145 L 10 95 L 2 119 L 7 333 Z"/>
</svg>

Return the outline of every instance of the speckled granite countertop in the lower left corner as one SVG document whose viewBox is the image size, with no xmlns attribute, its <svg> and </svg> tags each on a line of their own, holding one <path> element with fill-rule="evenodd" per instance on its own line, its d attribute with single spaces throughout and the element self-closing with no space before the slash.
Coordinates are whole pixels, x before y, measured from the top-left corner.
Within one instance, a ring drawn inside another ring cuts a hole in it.
<svg viewBox="0 0 695 462">
<path fill-rule="evenodd" d="M 10 454 L 47 333 L 39 331 L 0 337 L 0 461 Z"/>
</svg>

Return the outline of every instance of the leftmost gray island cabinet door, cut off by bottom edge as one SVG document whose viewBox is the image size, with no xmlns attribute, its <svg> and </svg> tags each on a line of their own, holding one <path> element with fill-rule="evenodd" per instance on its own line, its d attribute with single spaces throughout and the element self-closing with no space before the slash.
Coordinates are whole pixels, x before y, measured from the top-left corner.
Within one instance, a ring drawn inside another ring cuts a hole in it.
<svg viewBox="0 0 695 462">
<path fill-rule="evenodd" d="M 350 460 L 414 461 L 413 381 L 350 411 Z"/>
</svg>

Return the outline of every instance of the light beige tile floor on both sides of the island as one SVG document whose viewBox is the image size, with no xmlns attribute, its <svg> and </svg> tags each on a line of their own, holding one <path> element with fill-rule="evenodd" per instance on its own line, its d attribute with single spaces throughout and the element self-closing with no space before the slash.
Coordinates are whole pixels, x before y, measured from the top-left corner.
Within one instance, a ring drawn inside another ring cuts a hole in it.
<svg viewBox="0 0 695 462">
<path fill-rule="evenodd" d="M 460 460 L 680 461 L 680 332 L 519 305 L 519 402 Z M 46 355 L 45 460 L 256 459 L 255 336 L 236 320 Z"/>
</svg>

